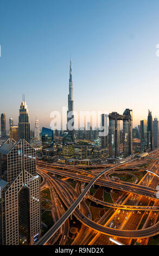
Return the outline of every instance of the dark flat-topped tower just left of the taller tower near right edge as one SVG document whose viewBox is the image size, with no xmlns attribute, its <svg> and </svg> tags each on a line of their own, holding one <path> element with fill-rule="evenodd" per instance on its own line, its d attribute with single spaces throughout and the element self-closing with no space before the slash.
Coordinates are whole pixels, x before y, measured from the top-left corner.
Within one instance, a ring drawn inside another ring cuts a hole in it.
<svg viewBox="0 0 159 256">
<path fill-rule="evenodd" d="M 141 153 L 147 151 L 147 120 L 140 121 Z"/>
</svg>

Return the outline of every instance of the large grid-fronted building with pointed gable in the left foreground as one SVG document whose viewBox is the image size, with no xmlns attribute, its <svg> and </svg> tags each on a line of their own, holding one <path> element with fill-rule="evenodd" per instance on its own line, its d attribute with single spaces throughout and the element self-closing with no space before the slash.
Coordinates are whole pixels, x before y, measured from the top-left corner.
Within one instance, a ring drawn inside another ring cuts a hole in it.
<svg viewBox="0 0 159 256">
<path fill-rule="evenodd" d="M 34 245 L 41 237 L 40 176 L 26 140 L 1 146 L 0 178 L 0 244 Z"/>
</svg>

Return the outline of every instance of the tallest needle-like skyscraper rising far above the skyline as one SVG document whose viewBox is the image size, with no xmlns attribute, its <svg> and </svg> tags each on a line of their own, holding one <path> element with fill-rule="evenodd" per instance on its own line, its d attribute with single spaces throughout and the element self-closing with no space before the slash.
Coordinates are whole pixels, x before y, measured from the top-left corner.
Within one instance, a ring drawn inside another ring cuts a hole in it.
<svg viewBox="0 0 159 256">
<path fill-rule="evenodd" d="M 68 111 L 67 111 L 67 131 L 69 131 L 72 135 L 72 140 L 74 140 L 74 115 L 72 111 L 74 110 L 74 102 L 73 102 L 73 81 L 72 81 L 72 64 L 70 59 L 69 65 L 69 94 L 68 94 Z M 72 119 L 71 124 L 69 121 Z"/>
</svg>

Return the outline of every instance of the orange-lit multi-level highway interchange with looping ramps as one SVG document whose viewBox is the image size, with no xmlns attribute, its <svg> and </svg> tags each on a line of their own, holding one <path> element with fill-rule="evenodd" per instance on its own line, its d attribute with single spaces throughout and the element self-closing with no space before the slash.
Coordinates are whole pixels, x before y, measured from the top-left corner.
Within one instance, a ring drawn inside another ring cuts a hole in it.
<svg viewBox="0 0 159 256">
<path fill-rule="evenodd" d="M 127 242 L 129 240 L 130 242 L 132 239 L 138 239 L 138 242 L 145 242 L 148 241 L 147 237 L 158 234 L 159 222 L 157 220 L 157 216 L 159 210 L 159 200 L 156 198 L 156 186 L 159 182 L 157 174 L 157 157 L 159 156 L 158 150 L 149 155 L 151 160 L 149 160 L 149 166 L 147 169 L 137 167 L 137 165 L 139 166 L 141 163 L 148 163 L 148 160 L 145 159 L 129 159 L 125 163 L 116 164 L 116 166 L 113 164 L 106 166 L 106 164 L 104 164 L 103 166 L 92 166 L 92 169 L 90 166 L 82 169 L 81 166 L 58 166 L 58 164 L 38 161 L 37 172 L 42 175 L 44 179 L 47 179 L 49 184 L 48 186 L 49 188 L 51 187 L 52 191 L 55 188 L 56 193 L 60 198 L 58 199 L 59 205 L 60 201 L 62 201 L 63 205 L 67 207 L 67 211 L 61 209 L 60 207 L 56 209 L 56 212 L 59 212 L 59 216 L 56 217 L 55 224 L 48 230 L 48 232 L 37 244 L 54 244 L 55 240 L 57 240 L 59 237 L 60 232 L 58 230 L 61 227 L 64 230 L 63 234 L 66 234 L 65 237 L 68 237 L 68 218 L 69 216 L 72 216 L 72 214 L 77 218 L 77 220 L 80 221 L 80 223 L 82 223 L 79 235 L 72 242 L 72 244 L 103 244 L 103 236 L 113 236 L 121 241 L 124 239 L 124 242 L 125 240 Z M 152 158 L 155 158 L 155 160 L 153 161 Z M 129 172 L 128 169 L 131 170 L 131 175 L 133 176 L 135 183 L 114 180 L 111 178 L 111 173 L 127 173 Z M 149 172 L 147 172 L 143 176 L 142 180 L 138 182 L 138 179 L 132 174 L 132 170 L 140 170 L 141 172 L 148 170 Z M 57 178 L 57 175 L 58 177 L 60 175 L 61 178 L 65 177 L 66 180 Z M 67 183 L 67 179 L 76 180 L 77 186 L 73 188 Z M 81 184 L 84 182 L 88 185 L 82 188 Z M 119 203 L 115 202 L 112 204 L 94 198 L 89 193 L 90 188 L 94 186 L 94 184 L 96 186 L 110 187 L 122 191 L 123 199 L 120 199 Z M 54 199 L 55 198 L 53 198 L 53 201 Z M 104 214 L 105 216 L 101 217 L 101 220 L 94 222 L 92 220 L 91 211 L 85 203 L 85 199 L 89 199 L 91 202 L 98 205 L 109 206 L 110 209 Z M 118 212 L 119 209 L 120 212 Z M 148 215 L 147 220 L 143 224 L 143 227 L 138 229 L 145 214 Z M 107 221 L 104 223 L 105 219 Z M 55 236 L 55 233 L 58 233 L 58 235 Z M 80 238 L 80 234 L 85 235 L 82 235 Z M 90 235 L 91 239 L 87 238 L 88 234 L 92 234 Z M 107 239 L 105 241 L 106 244 L 109 244 Z M 61 237 L 60 244 L 66 244 L 66 239 L 63 239 L 63 236 Z"/>
</svg>

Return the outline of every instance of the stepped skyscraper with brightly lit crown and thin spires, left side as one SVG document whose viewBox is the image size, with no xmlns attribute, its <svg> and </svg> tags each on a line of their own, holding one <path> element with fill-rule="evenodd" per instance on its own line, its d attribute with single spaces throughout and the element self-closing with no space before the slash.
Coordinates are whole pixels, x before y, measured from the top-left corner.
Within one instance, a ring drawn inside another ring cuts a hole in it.
<svg viewBox="0 0 159 256">
<path fill-rule="evenodd" d="M 19 139 L 25 139 L 27 142 L 30 142 L 30 123 L 29 123 L 29 115 L 28 115 L 28 106 L 24 101 L 24 96 L 20 106 L 18 132 L 19 132 Z"/>
</svg>

